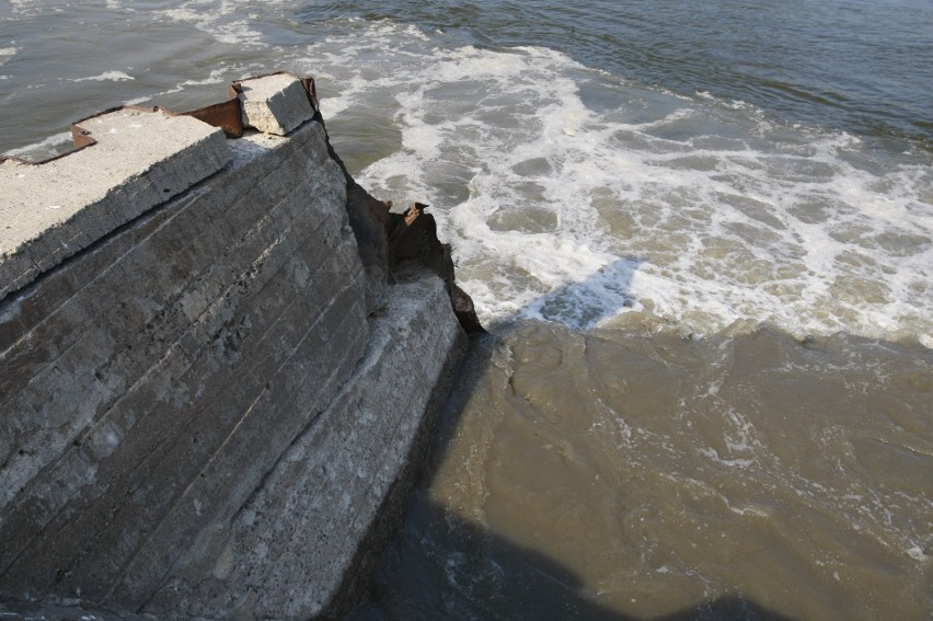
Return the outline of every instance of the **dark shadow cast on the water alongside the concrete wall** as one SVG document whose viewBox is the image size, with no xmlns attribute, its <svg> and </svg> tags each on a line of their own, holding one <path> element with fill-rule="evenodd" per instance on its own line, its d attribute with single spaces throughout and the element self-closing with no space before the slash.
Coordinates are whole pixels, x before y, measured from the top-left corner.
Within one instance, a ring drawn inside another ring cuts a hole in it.
<svg viewBox="0 0 933 621">
<path fill-rule="evenodd" d="M 637 265 L 637 261 L 620 260 L 585 281 L 560 287 L 528 304 L 510 320 L 498 322 L 492 333 L 472 337 L 456 386 L 438 414 L 421 481 L 382 554 L 368 599 L 349 617 L 353 621 L 791 621 L 740 594 L 672 613 L 626 616 L 598 601 L 592 589 L 588 591 L 581 578 L 560 562 L 483 527 L 482 517 L 464 518 L 460 510 L 464 507 L 448 506 L 449 498 L 433 497 L 436 479 L 450 468 L 444 465 L 445 459 L 457 440 L 464 409 L 477 391 L 488 390 L 483 376 L 495 364 L 502 341 L 528 318 L 561 319 L 587 329 L 632 306 L 629 286 Z"/>
</svg>

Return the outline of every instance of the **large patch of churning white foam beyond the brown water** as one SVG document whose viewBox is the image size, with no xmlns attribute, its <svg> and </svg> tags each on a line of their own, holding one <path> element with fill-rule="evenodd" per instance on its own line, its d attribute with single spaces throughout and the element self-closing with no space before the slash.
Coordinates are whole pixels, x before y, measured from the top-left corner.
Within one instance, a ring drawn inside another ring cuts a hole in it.
<svg viewBox="0 0 933 621">
<path fill-rule="evenodd" d="M 398 103 L 402 148 L 359 181 L 433 205 L 484 321 L 586 329 L 647 310 L 700 333 L 751 321 L 933 346 L 929 154 L 641 89 L 546 48 L 349 30 L 308 49 L 336 92 L 324 114 Z"/>
</svg>

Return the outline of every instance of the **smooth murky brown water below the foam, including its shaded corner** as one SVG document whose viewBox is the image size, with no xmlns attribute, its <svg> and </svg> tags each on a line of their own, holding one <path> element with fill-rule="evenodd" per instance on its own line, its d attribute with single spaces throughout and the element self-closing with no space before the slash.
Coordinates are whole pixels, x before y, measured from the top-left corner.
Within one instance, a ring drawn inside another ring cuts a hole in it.
<svg viewBox="0 0 933 621">
<path fill-rule="evenodd" d="M 362 618 L 931 618 L 932 350 L 526 322 L 470 365 Z"/>
</svg>

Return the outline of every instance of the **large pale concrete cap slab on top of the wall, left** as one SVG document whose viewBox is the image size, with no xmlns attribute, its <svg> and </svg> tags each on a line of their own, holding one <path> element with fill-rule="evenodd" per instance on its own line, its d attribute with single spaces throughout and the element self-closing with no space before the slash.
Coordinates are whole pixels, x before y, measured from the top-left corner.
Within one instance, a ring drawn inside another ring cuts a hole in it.
<svg viewBox="0 0 933 621">
<path fill-rule="evenodd" d="M 81 122 L 97 141 L 46 162 L 0 163 L 0 299 L 229 159 L 220 129 L 123 108 Z"/>
</svg>

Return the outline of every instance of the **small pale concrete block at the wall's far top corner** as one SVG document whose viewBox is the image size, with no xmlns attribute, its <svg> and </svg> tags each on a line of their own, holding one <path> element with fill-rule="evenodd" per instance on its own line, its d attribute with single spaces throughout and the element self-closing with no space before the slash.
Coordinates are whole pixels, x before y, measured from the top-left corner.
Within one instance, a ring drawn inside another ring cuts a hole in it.
<svg viewBox="0 0 933 621">
<path fill-rule="evenodd" d="M 240 82 L 243 125 L 266 134 L 286 136 L 314 117 L 314 108 L 301 81 L 275 73 Z"/>
</svg>

